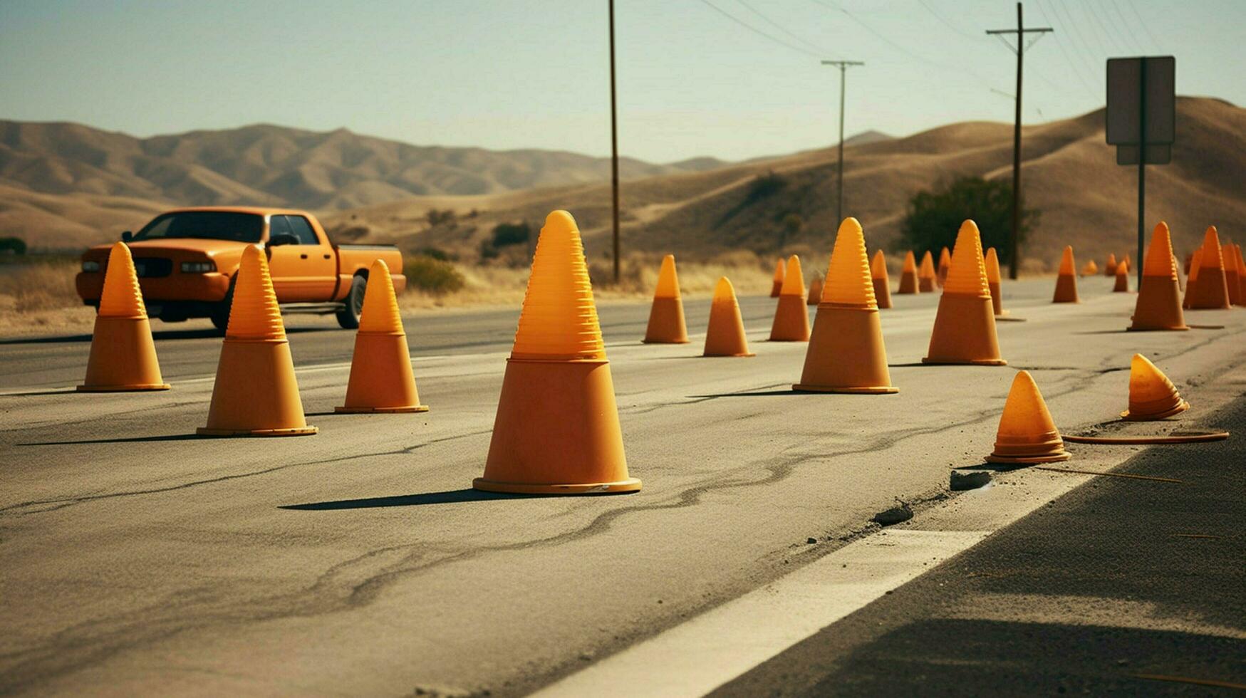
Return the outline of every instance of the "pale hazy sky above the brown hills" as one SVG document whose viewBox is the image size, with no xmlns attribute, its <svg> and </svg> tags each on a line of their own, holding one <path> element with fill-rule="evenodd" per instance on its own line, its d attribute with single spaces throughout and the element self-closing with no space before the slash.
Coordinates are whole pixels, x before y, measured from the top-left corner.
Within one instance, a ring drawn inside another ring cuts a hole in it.
<svg viewBox="0 0 1246 698">
<path fill-rule="evenodd" d="M 1012 121 L 1013 54 L 982 34 L 1014 26 L 1012 0 L 617 0 L 616 14 L 624 155 L 830 145 L 839 71 L 822 57 L 867 64 L 849 74 L 850 135 Z M 1246 102 L 1246 1 L 1028 0 L 1025 22 L 1057 30 L 1027 52 L 1025 122 L 1101 106 L 1109 55 L 1172 54 L 1180 93 Z M 608 155 L 607 60 L 606 0 L 0 0 L 0 117 L 137 136 L 270 122 Z"/>
</svg>

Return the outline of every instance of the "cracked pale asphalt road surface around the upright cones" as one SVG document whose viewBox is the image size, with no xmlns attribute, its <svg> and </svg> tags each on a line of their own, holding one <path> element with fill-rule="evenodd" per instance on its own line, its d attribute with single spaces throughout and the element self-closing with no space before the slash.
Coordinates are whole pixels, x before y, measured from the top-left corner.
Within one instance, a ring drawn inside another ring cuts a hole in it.
<svg viewBox="0 0 1246 698">
<path fill-rule="evenodd" d="M 1065 430 L 1124 409 L 1134 351 L 1190 414 L 1242 393 L 1246 313 L 1124 333 L 1134 297 L 1110 284 L 1083 279 L 1078 305 L 1050 304 L 1050 279 L 1006 284 L 1027 320 L 999 323 L 1008 368 L 921 365 L 937 297 L 893 297 L 882 322 L 901 391 L 882 396 L 787 391 L 805 345 L 764 342 L 768 298 L 741 299 L 751 359 L 698 358 L 708 299 L 685 299 L 693 344 L 678 347 L 639 344 L 647 305 L 602 304 L 644 480 L 611 497 L 470 490 L 517 308 L 406 319 L 432 408 L 420 415 L 331 414 L 353 334 L 290 318 L 321 433 L 283 440 L 193 437 L 221 342 L 202 325 L 157 323 L 174 385 L 158 394 L 66 393 L 85 338 L 0 342 L 0 692 L 540 688 L 832 553 L 897 499 L 947 497 L 949 466 L 991 450 L 1017 368 Z M 1138 450 L 1088 449 L 1073 462 L 1100 470 Z M 998 506 L 1080 481 L 1022 471 Z"/>
</svg>

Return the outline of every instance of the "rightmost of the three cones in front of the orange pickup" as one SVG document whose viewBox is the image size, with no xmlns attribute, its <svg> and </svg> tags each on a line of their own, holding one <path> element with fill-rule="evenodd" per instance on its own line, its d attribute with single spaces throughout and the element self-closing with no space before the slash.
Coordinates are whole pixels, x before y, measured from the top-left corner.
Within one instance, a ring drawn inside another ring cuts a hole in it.
<svg viewBox="0 0 1246 698">
<path fill-rule="evenodd" d="M 355 354 L 346 383 L 346 404 L 338 413 L 426 413 L 411 373 L 402 315 L 394 279 L 383 259 L 373 262 L 364 290 L 364 309 L 355 332 Z"/>
</svg>

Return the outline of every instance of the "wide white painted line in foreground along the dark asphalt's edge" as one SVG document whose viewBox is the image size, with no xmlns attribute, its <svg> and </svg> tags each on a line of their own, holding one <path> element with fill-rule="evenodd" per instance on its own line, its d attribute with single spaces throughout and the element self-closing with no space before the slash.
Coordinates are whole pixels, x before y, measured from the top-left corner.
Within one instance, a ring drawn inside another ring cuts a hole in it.
<svg viewBox="0 0 1246 698">
<path fill-rule="evenodd" d="M 533 696 L 704 696 L 987 533 L 880 531 Z"/>
</svg>

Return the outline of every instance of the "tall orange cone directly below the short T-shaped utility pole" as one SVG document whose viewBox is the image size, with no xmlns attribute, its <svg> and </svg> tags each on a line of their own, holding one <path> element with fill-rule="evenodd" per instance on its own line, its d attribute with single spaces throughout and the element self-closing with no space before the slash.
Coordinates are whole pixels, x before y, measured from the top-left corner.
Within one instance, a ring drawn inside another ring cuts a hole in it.
<svg viewBox="0 0 1246 698">
<path fill-rule="evenodd" d="M 840 223 L 826 279 L 814 319 L 814 337 L 805 351 L 805 369 L 792 390 L 898 393 L 887 371 L 887 350 L 873 294 L 877 279 L 871 278 L 865 236 L 856 218 Z"/>
</svg>

